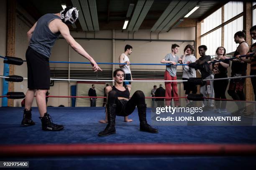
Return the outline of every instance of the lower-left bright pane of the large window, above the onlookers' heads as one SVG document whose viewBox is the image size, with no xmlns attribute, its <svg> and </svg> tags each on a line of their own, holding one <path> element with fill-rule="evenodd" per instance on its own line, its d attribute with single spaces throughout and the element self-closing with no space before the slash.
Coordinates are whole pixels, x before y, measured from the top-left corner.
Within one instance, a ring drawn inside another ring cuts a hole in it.
<svg viewBox="0 0 256 170">
<path fill-rule="evenodd" d="M 217 47 L 221 46 L 221 28 L 203 36 L 201 44 L 207 46 L 207 55 L 215 55 Z"/>
</svg>

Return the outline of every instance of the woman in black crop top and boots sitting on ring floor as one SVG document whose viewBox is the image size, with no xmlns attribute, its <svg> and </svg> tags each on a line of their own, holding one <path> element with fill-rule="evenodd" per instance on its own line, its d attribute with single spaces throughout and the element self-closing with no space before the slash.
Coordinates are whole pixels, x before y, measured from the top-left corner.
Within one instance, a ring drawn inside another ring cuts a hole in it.
<svg viewBox="0 0 256 170">
<path fill-rule="evenodd" d="M 123 86 L 124 72 L 117 69 L 113 73 L 115 85 L 105 89 L 107 95 L 108 125 L 100 132 L 99 136 L 107 136 L 115 133 L 115 116 L 128 116 L 137 106 L 140 120 L 140 130 L 149 133 L 158 133 L 158 130 L 148 125 L 146 120 L 146 102 L 142 91 L 137 90 L 129 100 L 131 88 Z"/>
</svg>

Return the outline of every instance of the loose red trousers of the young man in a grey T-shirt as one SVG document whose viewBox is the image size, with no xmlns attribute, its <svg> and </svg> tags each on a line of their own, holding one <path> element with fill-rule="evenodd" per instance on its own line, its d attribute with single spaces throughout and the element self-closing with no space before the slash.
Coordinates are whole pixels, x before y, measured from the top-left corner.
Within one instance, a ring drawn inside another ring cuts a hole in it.
<svg viewBox="0 0 256 170">
<path fill-rule="evenodd" d="M 164 80 L 177 80 L 177 77 L 172 77 L 170 73 L 166 70 L 164 72 Z M 179 97 L 178 89 L 177 89 L 177 82 L 164 82 L 165 84 L 165 97 Z M 179 98 L 173 98 L 174 100 L 174 107 L 179 106 Z M 169 106 L 172 102 L 172 98 L 165 99 L 166 106 Z"/>
</svg>

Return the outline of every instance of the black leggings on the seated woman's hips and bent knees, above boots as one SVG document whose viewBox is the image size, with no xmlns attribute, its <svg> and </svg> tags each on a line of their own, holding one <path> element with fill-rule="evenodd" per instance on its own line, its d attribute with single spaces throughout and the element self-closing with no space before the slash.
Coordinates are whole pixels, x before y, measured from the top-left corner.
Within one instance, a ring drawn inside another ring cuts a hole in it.
<svg viewBox="0 0 256 170">
<path fill-rule="evenodd" d="M 145 105 L 145 95 L 141 90 L 134 92 L 130 100 L 118 100 L 117 92 L 111 90 L 108 93 L 108 104 L 116 104 L 116 115 L 117 116 L 128 116 L 134 110 L 136 105 Z"/>
</svg>

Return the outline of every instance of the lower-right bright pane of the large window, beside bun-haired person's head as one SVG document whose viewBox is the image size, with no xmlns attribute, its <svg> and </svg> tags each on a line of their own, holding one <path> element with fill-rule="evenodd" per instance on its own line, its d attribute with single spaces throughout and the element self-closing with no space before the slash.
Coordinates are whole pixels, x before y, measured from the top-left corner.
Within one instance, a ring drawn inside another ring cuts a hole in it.
<svg viewBox="0 0 256 170">
<path fill-rule="evenodd" d="M 235 51 L 238 47 L 238 44 L 234 41 L 234 35 L 241 30 L 243 30 L 243 16 L 224 25 L 224 47 L 227 53 Z"/>
</svg>

